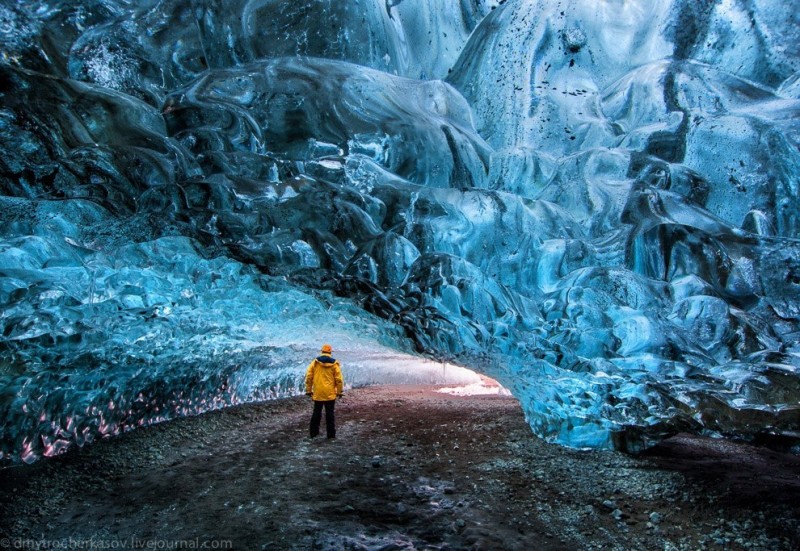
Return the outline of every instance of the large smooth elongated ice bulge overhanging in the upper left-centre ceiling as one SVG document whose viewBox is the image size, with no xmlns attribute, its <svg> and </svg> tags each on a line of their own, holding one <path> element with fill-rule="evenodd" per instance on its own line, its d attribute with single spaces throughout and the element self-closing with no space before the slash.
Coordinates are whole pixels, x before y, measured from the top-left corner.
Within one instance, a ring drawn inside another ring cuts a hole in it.
<svg viewBox="0 0 800 551">
<path fill-rule="evenodd" d="M 485 187 L 489 151 L 469 105 L 441 81 L 344 62 L 281 58 L 209 72 L 167 98 L 169 132 L 197 155 L 297 162 L 359 153 L 436 187 Z"/>
</svg>

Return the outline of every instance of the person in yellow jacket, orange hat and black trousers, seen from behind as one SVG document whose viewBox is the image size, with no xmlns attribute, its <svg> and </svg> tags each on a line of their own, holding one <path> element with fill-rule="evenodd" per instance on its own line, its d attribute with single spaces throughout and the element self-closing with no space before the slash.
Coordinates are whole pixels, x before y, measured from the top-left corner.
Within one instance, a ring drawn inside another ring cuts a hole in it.
<svg viewBox="0 0 800 551">
<path fill-rule="evenodd" d="M 314 412 L 311 414 L 308 433 L 311 438 L 319 434 L 323 407 L 328 438 L 336 438 L 336 417 L 333 411 L 336 399 L 341 398 L 344 393 L 344 379 L 342 379 L 342 367 L 331 357 L 332 353 L 331 345 L 323 345 L 322 354 L 314 358 L 306 370 L 306 394 L 314 400 Z"/>
</svg>

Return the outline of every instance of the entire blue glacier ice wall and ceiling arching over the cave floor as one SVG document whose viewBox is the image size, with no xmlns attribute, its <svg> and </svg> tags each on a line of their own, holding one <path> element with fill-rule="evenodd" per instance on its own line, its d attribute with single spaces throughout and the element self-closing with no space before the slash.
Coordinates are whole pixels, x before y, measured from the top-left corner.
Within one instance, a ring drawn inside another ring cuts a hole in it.
<svg viewBox="0 0 800 551">
<path fill-rule="evenodd" d="M 0 2 L 0 461 L 292 394 L 322 340 L 565 445 L 796 442 L 798 14 Z"/>
</svg>

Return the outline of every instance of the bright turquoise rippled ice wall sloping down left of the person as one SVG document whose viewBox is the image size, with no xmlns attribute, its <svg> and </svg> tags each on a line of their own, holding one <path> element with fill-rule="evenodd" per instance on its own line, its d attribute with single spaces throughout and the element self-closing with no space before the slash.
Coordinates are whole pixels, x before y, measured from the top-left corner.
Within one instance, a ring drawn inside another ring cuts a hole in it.
<svg viewBox="0 0 800 551">
<path fill-rule="evenodd" d="M 408 347 L 392 326 L 346 301 L 207 258 L 191 239 L 120 242 L 114 231 L 131 228 L 98 205 L 4 198 L 2 206 L 4 465 L 295 394 L 322 339 L 354 360 L 357 350 Z M 380 370 L 379 361 L 358 365 Z M 352 375 L 357 384 L 369 374 Z"/>
</svg>

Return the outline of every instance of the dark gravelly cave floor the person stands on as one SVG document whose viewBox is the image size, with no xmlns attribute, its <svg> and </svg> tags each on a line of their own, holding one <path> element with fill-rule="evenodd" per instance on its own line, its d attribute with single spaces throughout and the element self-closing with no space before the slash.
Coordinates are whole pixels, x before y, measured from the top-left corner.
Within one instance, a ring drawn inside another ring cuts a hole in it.
<svg viewBox="0 0 800 551">
<path fill-rule="evenodd" d="M 570 450 L 533 437 L 513 398 L 436 389 L 350 391 L 336 440 L 308 438 L 311 403 L 295 397 L 7 468 L 2 544 L 800 548 L 798 456 L 687 435 L 636 457 Z"/>
</svg>

